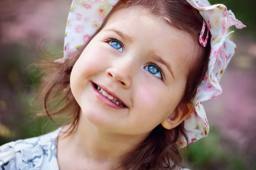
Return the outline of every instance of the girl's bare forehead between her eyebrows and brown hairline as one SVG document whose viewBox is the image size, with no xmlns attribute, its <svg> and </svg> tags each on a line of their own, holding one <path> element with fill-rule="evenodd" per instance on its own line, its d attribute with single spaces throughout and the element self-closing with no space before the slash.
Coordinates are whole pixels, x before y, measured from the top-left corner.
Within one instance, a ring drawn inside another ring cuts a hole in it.
<svg viewBox="0 0 256 170">
<path fill-rule="evenodd" d="M 165 58 L 172 67 L 180 67 L 177 62 L 183 65 L 191 63 L 197 55 L 197 45 L 187 32 L 177 30 L 144 8 L 117 11 L 109 18 L 103 30 L 111 28 L 131 37 L 132 42 L 141 45 L 141 51 L 154 51 Z"/>
</svg>

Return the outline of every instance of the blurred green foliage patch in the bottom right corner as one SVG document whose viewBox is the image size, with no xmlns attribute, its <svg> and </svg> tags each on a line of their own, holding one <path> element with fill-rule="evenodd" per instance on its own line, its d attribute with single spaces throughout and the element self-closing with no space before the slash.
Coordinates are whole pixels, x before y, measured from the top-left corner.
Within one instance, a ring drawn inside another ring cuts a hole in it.
<svg viewBox="0 0 256 170">
<path fill-rule="evenodd" d="M 182 150 L 192 170 L 254 170 L 246 160 L 223 147 L 218 130 L 211 128 L 207 137 Z"/>
</svg>

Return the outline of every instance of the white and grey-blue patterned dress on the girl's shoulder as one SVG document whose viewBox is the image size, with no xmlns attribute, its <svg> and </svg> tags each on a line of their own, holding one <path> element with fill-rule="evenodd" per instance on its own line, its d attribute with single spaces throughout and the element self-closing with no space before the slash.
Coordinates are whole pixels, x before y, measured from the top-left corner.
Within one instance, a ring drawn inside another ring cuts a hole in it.
<svg viewBox="0 0 256 170">
<path fill-rule="evenodd" d="M 0 170 L 59 170 L 56 144 L 61 129 L 0 146 Z"/>
</svg>

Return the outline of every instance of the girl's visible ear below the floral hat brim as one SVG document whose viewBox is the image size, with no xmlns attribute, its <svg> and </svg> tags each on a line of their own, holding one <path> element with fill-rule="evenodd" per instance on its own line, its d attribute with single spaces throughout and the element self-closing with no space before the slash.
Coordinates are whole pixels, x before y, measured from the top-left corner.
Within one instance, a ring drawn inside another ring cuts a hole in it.
<svg viewBox="0 0 256 170">
<path fill-rule="evenodd" d="M 192 113 L 193 108 L 192 103 L 180 105 L 174 113 L 161 123 L 162 126 L 166 129 L 173 129 L 177 127 Z"/>
</svg>

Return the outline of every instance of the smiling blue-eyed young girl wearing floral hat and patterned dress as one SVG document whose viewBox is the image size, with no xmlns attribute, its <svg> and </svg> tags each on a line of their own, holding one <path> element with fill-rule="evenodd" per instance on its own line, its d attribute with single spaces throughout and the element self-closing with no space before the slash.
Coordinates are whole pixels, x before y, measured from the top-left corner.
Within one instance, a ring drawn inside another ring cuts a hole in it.
<svg viewBox="0 0 256 170">
<path fill-rule="evenodd" d="M 181 169 L 179 148 L 209 131 L 201 102 L 222 92 L 233 25 L 207 0 L 73 0 L 40 93 L 42 115 L 67 122 L 1 146 L 1 169 Z"/>
</svg>

